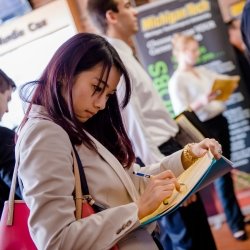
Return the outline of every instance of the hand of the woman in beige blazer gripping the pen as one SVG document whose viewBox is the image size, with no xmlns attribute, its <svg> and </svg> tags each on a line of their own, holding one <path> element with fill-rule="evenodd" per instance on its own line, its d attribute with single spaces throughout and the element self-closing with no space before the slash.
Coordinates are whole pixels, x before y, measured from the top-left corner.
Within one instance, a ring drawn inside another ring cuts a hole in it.
<svg viewBox="0 0 250 250">
<path fill-rule="evenodd" d="M 174 189 L 179 191 L 180 184 L 171 170 L 151 176 L 144 193 L 136 202 L 139 219 L 154 212 L 164 199 L 172 195 Z"/>
</svg>

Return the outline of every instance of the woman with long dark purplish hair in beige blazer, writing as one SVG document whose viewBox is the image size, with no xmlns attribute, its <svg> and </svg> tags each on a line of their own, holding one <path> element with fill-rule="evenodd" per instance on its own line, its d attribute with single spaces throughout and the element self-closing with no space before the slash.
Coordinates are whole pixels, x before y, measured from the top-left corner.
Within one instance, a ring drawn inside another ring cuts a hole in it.
<svg viewBox="0 0 250 250">
<path fill-rule="evenodd" d="M 127 71 L 102 37 L 78 34 L 66 41 L 44 70 L 21 125 L 16 155 L 29 230 L 38 249 L 157 249 L 152 223 L 139 220 L 173 190 L 175 175 L 189 162 L 179 151 L 133 175 L 139 166 L 125 133 L 116 87 L 125 78 L 123 104 L 130 96 Z M 76 220 L 72 144 L 84 166 L 90 194 L 106 209 Z M 205 139 L 190 148 L 200 157 L 220 145 Z M 184 162 L 184 164 L 182 164 Z M 171 169 L 168 170 L 168 169 Z"/>
</svg>

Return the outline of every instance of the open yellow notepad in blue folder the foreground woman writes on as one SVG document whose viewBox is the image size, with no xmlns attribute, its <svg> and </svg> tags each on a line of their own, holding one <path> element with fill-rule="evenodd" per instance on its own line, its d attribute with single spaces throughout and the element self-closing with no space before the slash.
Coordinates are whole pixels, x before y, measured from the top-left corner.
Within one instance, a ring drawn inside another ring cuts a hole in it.
<svg viewBox="0 0 250 250">
<path fill-rule="evenodd" d="M 167 199 L 167 204 L 162 202 L 153 213 L 140 220 L 141 224 L 146 225 L 165 214 L 173 212 L 190 195 L 232 170 L 232 164 L 224 156 L 219 160 L 215 160 L 211 152 L 207 152 L 177 178 L 181 184 L 181 191 L 174 190 L 172 196 Z"/>
</svg>

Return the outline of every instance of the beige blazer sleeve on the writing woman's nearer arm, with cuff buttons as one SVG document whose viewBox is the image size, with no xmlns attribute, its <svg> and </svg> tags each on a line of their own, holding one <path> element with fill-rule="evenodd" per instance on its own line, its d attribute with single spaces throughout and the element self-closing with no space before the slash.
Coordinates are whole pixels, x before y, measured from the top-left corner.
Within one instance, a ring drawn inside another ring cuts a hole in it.
<svg viewBox="0 0 250 250">
<path fill-rule="evenodd" d="M 23 198 L 30 209 L 29 230 L 38 249 L 110 249 L 140 225 L 135 203 L 76 221 L 68 135 L 49 121 L 26 126 L 16 155 Z"/>
</svg>

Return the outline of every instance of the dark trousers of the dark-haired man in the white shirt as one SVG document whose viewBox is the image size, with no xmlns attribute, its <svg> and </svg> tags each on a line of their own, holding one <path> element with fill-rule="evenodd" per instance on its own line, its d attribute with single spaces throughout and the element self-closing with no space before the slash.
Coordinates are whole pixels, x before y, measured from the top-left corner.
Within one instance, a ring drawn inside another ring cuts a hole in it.
<svg viewBox="0 0 250 250">
<path fill-rule="evenodd" d="M 170 139 L 159 147 L 164 155 L 170 155 L 181 145 Z M 197 201 L 180 207 L 158 220 L 159 239 L 165 250 L 214 250 L 216 245 L 207 221 L 207 214 L 199 194 Z"/>
</svg>

